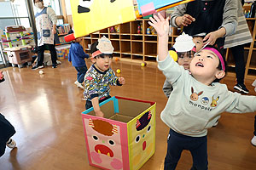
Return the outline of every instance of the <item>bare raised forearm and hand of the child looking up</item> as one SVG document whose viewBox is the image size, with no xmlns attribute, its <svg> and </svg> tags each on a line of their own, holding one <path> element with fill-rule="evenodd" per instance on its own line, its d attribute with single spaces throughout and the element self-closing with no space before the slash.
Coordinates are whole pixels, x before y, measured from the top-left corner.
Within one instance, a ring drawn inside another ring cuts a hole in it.
<svg viewBox="0 0 256 170">
<path fill-rule="evenodd" d="M 158 58 L 165 60 L 168 54 L 168 38 L 169 38 L 169 17 L 164 19 L 161 14 L 154 15 L 149 18 L 148 24 L 153 26 L 158 36 Z"/>
</svg>

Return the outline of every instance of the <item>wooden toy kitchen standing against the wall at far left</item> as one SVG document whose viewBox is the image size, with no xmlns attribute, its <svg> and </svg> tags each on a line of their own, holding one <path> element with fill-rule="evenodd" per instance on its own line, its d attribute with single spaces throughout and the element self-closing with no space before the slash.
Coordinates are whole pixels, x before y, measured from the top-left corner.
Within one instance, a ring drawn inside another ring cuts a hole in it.
<svg viewBox="0 0 256 170">
<path fill-rule="evenodd" d="M 28 39 L 28 37 L 25 37 L 23 31 L 26 31 L 24 26 L 6 26 L 4 32 L 6 41 L 1 41 L 8 43 L 9 47 L 4 48 L 3 51 L 7 53 L 9 63 L 11 63 L 13 67 L 18 65 L 18 67 L 21 68 L 22 65 L 26 62 L 28 65 L 32 64 L 32 46 L 26 45 L 25 40 Z M 22 42 L 22 45 L 19 47 L 13 47 L 13 41 L 10 38 L 10 34 L 16 32 L 20 33 L 20 37 L 18 38 Z"/>
</svg>

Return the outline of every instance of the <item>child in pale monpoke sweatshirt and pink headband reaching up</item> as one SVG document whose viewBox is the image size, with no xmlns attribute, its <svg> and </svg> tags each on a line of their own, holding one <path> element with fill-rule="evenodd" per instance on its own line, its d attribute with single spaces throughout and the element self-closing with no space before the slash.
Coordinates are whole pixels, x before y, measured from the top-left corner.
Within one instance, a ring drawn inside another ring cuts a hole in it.
<svg viewBox="0 0 256 170">
<path fill-rule="evenodd" d="M 224 57 L 216 48 L 207 46 L 191 60 L 189 71 L 177 65 L 168 53 L 169 18 L 160 14 L 148 22 L 158 34 L 158 67 L 172 83 L 161 119 L 170 127 L 167 139 L 165 169 L 177 166 L 183 150 L 193 157 L 191 169 L 208 169 L 207 129 L 224 111 L 245 113 L 256 111 L 256 97 L 232 93 L 219 83 L 225 76 Z"/>
</svg>

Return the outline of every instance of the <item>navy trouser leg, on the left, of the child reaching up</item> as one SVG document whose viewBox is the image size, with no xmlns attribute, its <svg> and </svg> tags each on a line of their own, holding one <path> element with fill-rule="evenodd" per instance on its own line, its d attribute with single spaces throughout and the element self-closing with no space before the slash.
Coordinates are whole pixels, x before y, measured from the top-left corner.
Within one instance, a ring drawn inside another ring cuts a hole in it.
<svg viewBox="0 0 256 170">
<path fill-rule="evenodd" d="M 180 159 L 183 147 L 180 146 L 180 140 L 170 129 L 167 139 L 167 153 L 165 158 L 165 170 L 172 170 L 177 167 L 177 161 Z"/>
</svg>

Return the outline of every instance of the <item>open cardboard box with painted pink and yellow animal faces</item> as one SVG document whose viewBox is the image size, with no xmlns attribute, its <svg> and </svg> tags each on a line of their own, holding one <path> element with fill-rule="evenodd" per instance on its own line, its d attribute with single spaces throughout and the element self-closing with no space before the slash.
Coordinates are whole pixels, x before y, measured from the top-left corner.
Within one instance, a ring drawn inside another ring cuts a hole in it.
<svg viewBox="0 0 256 170">
<path fill-rule="evenodd" d="M 155 102 L 114 96 L 82 113 L 90 165 L 103 169 L 139 169 L 155 150 Z"/>
</svg>

